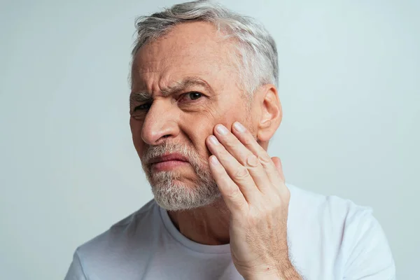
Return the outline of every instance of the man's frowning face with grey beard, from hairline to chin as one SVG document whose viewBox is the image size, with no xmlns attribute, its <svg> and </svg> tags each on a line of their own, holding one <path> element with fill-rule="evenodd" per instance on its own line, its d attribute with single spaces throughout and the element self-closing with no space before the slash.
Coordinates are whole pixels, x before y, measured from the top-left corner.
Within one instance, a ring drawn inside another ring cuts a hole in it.
<svg viewBox="0 0 420 280">
<path fill-rule="evenodd" d="M 155 200 L 169 210 L 202 207 L 221 197 L 205 139 L 216 124 L 249 126 L 237 87 L 231 43 L 213 25 L 177 25 L 144 45 L 132 68 L 130 127 Z"/>
</svg>

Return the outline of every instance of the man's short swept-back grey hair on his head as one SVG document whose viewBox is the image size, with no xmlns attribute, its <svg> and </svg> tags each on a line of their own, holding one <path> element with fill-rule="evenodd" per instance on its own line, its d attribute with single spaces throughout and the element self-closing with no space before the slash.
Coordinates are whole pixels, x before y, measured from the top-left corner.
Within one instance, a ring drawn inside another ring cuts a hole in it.
<svg viewBox="0 0 420 280">
<path fill-rule="evenodd" d="M 132 50 L 132 59 L 143 45 L 183 22 L 210 22 L 218 31 L 222 31 L 225 35 L 223 38 L 236 39 L 238 52 L 234 59 L 239 73 L 239 85 L 250 97 L 260 85 L 278 85 L 276 43 L 265 27 L 251 17 L 239 15 L 207 0 L 176 4 L 160 13 L 137 18 L 137 40 Z"/>
</svg>

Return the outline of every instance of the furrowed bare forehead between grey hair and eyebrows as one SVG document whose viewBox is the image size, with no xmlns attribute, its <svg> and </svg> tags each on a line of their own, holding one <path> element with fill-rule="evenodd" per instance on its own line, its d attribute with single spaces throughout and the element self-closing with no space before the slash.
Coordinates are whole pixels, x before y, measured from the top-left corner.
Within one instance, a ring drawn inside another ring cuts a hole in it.
<svg viewBox="0 0 420 280">
<path fill-rule="evenodd" d="M 236 48 L 206 22 L 177 25 L 157 40 L 142 46 L 132 65 L 132 85 L 153 78 L 173 80 L 188 76 L 221 77 L 237 71 Z"/>
</svg>

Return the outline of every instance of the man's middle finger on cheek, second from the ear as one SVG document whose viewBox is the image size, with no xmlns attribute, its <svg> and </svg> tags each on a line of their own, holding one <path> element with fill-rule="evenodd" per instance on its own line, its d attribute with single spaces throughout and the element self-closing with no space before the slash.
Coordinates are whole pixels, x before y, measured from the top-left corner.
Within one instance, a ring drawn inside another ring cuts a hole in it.
<svg viewBox="0 0 420 280">
<path fill-rule="evenodd" d="M 216 135 L 226 151 L 228 151 L 241 165 L 248 169 L 255 186 L 258 190 L 263 191 L 262 189 L 269 184 L 269 180 L 267 178 L 267 173 L 260 164 L 257 156 L 249 151 L 248 148 L 246 148 L 244 144 L 242 144 L 241 141 L 223 125 L 216 125 L 214 135 Z"/>
</svg>

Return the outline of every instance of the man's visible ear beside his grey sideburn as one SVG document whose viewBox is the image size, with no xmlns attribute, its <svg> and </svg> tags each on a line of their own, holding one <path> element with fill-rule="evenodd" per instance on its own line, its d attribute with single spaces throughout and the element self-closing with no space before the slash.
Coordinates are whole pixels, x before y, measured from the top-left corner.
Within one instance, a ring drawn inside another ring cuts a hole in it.
<svg viewBox="0 0 420 280">
<path fill-rule="evenodd" d="M 274 85 L 262 85 L 260 88 L 260 120 L 258 123 L 257 139 L 260 145 L 267 149 L 268 141 L 279 128 L 283 111 L 279 95 Z"/>
</svg>

